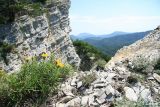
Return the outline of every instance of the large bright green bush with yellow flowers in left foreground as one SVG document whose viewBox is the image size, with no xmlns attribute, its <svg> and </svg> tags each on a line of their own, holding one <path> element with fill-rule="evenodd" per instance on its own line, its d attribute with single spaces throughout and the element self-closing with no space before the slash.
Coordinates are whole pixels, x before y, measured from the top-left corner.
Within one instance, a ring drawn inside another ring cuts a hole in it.
<svg viewBox="0 0 160 107">
<path fill-rule="evenodd" d="M 28 62 L 19 73 L 0 78 L 0 105 L 22 107 L 25 102 L 38 105 L 50 94 L 56 93 L 59 83 L 71 72 L 71 67 L 57 67 L 52 60 Z"/>
</svg>

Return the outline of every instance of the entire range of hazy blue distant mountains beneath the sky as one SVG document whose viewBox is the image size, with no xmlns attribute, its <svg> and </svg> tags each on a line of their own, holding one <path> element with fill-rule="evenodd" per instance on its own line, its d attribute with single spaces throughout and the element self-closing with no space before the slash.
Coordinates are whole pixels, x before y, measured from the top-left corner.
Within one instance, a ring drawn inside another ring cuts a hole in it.
<svg viewBox="0 0 160 107">
<path fill-rule="evenodd" d="M 89 33 L 81 33 L 79 35 L 71 35 L 72 40 L 82 40 L 97 47 L 108 55 L 114 55 L 118 49 L 128 46 L 135 41 L 142 39 L 150 31 L 127 33 L 116 31 L 106 35 L 94 35 Z"/>
</svg>

